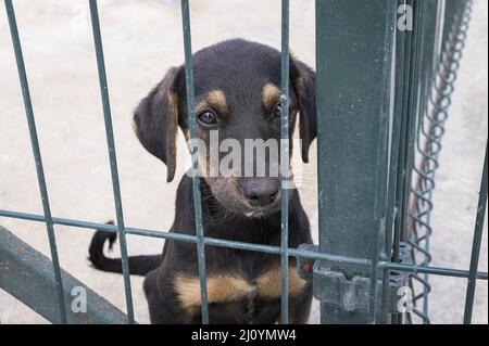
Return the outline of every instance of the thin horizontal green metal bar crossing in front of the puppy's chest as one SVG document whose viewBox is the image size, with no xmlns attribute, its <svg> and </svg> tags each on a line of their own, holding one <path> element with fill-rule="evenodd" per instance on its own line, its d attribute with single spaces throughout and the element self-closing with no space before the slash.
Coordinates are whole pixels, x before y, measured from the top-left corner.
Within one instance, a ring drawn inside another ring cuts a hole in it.
<svg viewBox="0 0 489 346">
<path fill-rule="evenodd" d="M 11 210 L 4 210 L 4 209 L 0 209 L 0 217 L 9 217 L 9 218 L 15 218 L 15 219 L 46 222 L 45 217 L 42 215 L 21 213 L 21 212 L 11 212 Z M 109 231 L 109 232 L 117 232 L 117 227 L 114 225 L 98 223 L 98 222 L 90 222 L 90 221 L 67 219 L 67 218 L 59 218 L 59 217 L 53 217 L 52 221 L 54 225 L 63 225 L 63 226 L 68 226 L 68 227 L 83 228 L 83 229 L 93 229 L 93 230 L 103 230 L 103 231 Z M 173 232 L 165 232 L 165 231 L 156 231 L 156 230 L 148 230 L 148 229 L 140 229 L 140 228 L 130 228 L 130 227 L 125 228 L 125 233 L 134 234 L 134 235 L 158 238 L 158 239 L 165 239 L 165 240 L 171 240 L 171 241 L 187 242 L 187 243 L 197 243 L 197 241 L 198 241 L 196 235 L 173 233 Z M 237 241 L 229 241 L 229 240 L 217 239 L 217 238 L 204 236 L 203 241 L 204 241 L 205 245 L 211 245 L 211 246 L 229 247 L 229 248 L 243 249 L 243 251 L 254 251 L 254 252 L 259 252 L 259 253 L 267 253 L 267 254 L 276 254 L 276 255 L 279 255 L 281 252 L 279 246 L 237 242 Z M 331 262 L 336 262 L 336 264 L 346 264 L 346 265 L 365 266 L 365 267 L 369 267 L 372 265 L 371 260 L 368 260 L 368 259 L 330 255 L 330 254 L 317 253 L 317 252 L 313 252 L 313 251 L 289 248 L 288 253 L 289 253 L 289 257 L 303 257 L 303 258 L 309 258 L 309 259 L 325 259 L 325 260 L 330 260 Z M 388 262 L 388 261 L 380 261 L 378 264 L 378 269 L 379 270 L 398 270 L 398 271 L 409 271 L 409 272 L 421 272 L 421 273 L 429 273 L 429 274 L 454 277 L 454 278 L 468 278 L 468 270 L 441 268 L 441 267 L 409 266 L 409 265 Z M 488 273 L 479 271 L 479 272 L 477 272 L 477 279 L 478 280 L 488 280 Z"/>
</svg>

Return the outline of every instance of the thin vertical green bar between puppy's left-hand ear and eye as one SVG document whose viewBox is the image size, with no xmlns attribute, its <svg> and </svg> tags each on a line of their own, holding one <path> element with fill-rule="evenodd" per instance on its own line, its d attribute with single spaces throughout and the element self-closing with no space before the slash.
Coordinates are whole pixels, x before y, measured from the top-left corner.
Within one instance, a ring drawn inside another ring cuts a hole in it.
<svg viewBox="0 0 489 346">
<path fill-rule="evenodd" d="M 195 142 L 197 138 L 196 123 L 196 105 L 193 93 L 193 69 L 192 69 L 192 43 L 190 35 L 190 9 L 188 0 L 181 0 L 181 22 L 184 28 L 184 49 L 185 49 L 185 79 L 187 85 L 187 107 L 188 124 L 190 127 L 191 149 L 192 149 L 192 188 L 193 188 L 193 208 L 196 213 L 196 233 L 197 233 L 197 252 L 200 278 L 200 296 L 202 306 L 202 323 L 209 323 L 209 306 L 208 306 L 208 285 L 205 278 L 205 246 L 203 242 L 202 226 L 202 204 L 199 178 L 199 151 Z"/>
</svg>

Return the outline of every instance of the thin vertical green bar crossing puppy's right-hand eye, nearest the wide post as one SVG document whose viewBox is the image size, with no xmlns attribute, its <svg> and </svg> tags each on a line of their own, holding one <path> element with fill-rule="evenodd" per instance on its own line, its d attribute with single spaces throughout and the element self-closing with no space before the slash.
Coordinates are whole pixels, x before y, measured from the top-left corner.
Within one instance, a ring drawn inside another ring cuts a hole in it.
<svg viewBox="0 0 489 346">
<path fill-rule="evenodd" d="M 281 0 L 281 323 L 289 322 L 289 0 Z"/>
</svg>

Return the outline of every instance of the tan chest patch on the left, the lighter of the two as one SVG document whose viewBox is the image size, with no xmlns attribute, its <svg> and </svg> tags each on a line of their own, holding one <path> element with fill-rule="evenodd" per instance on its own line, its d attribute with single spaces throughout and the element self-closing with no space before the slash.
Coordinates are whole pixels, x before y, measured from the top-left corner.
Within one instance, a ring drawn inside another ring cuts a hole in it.
<svg viewBox="0 0 489 346">
<path fill-rule="evenodd" d="M 199 278 L 178 275 L 174 284 L 184 309 L 189 310 L 201 305 Z M 251 293 L 253 293 L 253 286 L 238 275 L 220 274 L 208 277 L 209 304 L 239 300 Z"/>
</svg>

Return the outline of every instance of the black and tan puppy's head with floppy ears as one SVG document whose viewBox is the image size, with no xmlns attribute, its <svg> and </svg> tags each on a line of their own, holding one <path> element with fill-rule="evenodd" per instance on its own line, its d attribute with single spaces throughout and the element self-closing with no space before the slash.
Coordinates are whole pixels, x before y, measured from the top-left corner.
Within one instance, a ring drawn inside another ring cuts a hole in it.
<svg viewBox="0 0 489 346">
<path fill-rule="evenodd" d="M 316 137 L 315 73 L 290 57 L 290 138 L 299 118 L 308 163 Z M 263 215 L 280 207 L 280 53 L 240 39 L 192 56 L 199 166 L 205 184 L 228 210 Z M 142 145 L 176 167 L 178 127 L 189 139 L 185 67 L 171 68 L 134 116 Z M 290 142 L 292 143 L 292 141 Z M 290 148 L 290 153 L 292 148 Z"/>
</svg>

